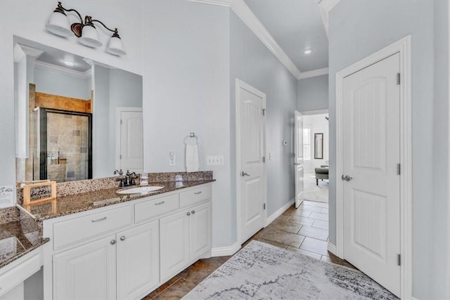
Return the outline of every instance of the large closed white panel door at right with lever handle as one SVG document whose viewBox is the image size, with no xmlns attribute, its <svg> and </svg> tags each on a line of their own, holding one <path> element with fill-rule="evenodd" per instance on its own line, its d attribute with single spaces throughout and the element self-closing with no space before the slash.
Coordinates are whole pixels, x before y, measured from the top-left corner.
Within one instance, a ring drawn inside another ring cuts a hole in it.
<svg viewBox="0 0 450 300">
<path fill-rule="evenodd" d="M 342 109 L 344 258 L 397 296 L 399 65 L 397 53 L 345 77 Z"/>
</svg>

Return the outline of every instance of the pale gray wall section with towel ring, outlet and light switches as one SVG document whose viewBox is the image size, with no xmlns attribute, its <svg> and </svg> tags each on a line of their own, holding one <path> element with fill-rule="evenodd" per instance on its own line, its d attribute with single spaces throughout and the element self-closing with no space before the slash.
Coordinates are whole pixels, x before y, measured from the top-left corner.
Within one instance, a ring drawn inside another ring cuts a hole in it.
<svg viewBox="0 0 450 300">
<path fill-rule="evenodd" d="M 212 246 L 236 242 L 230 188 L 229 8 L 143 1 L 144 171 L 186 171 L 184 138 L 198 136 L 200 170 L 214 171 Z M 176 166 L 169 166 L 169 152 Z M 224 156 L 207 166 L 208 155 Z"/>
</svg>

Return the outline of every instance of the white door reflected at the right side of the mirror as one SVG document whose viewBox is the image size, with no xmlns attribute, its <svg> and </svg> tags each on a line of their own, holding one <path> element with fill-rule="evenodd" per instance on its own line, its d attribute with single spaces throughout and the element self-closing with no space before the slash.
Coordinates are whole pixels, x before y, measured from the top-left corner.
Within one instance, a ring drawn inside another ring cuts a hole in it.
<svg viewBox="0 0 450 300">
<path fill-rule="evenodd" d="M 143 171 L 143 119 L 142 109 L 118 107 L 120 129 L 117 135 L 116 169 L 141 173 Z"/>
</svg>

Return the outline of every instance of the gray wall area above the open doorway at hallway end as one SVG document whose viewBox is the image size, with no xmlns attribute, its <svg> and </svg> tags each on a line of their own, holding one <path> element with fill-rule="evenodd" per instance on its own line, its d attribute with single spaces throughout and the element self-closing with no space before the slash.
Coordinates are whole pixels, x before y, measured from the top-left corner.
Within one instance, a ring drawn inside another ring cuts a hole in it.
<svg viewBox="0 0 450 300">
<path fill-rule="evenodd" d="M 328 109 L 328 74 L 300 79 L 297 82 L 297 110 Z"/>
</svg>

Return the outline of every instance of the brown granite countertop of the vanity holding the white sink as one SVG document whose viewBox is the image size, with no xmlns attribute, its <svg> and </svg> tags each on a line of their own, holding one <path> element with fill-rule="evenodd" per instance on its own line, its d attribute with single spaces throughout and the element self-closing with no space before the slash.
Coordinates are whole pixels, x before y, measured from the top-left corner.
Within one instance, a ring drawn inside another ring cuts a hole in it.
<svg viewBox="0 0 450 300">
<path fill-rule="evenodd" d="M 23 208 L 32 214 L 36 221 L 44 221 L 46 219 L 56 218 L 58 216 L 66 216 L 75 214 L 81 211 L 89 211 L 91 209 L 98 209 L 117 203 L 127 202 L 131 200 L 140 199 L 143 197 L 150 197 L 160 195 L 162 193 L 172 192 L 183 188 L 190 188 L 195 185 L 201 185 L 215 181 L 214 179 L 205 179 L 198 181 L 160 181 L 150 182 L 148 185 L 162 185 L 164 188 L 145 194 L 117 194 L 117 190 L 124 188 L 108 188 L 103 190 L 94 190 L 86 193 L 79 193 L 75 195 L 67 195 L 63 197 L 56 197 L 56 200 L 49 202 L 41 202 L 39 204 L 31 204 L 23 206 Z M 136 188 L 132 185 L 127 188 Z"/>
</svg>

